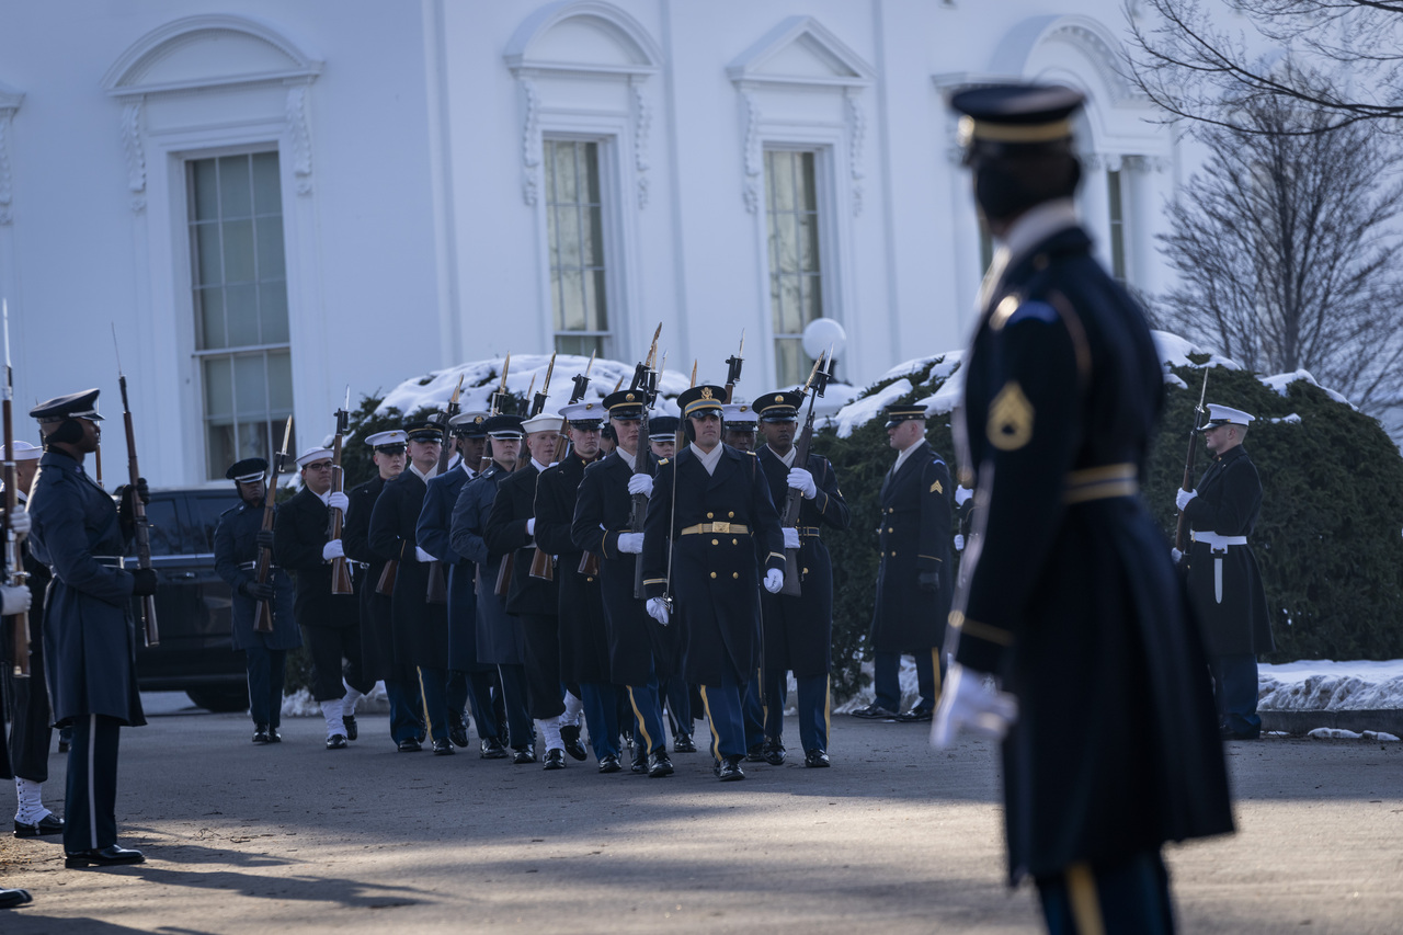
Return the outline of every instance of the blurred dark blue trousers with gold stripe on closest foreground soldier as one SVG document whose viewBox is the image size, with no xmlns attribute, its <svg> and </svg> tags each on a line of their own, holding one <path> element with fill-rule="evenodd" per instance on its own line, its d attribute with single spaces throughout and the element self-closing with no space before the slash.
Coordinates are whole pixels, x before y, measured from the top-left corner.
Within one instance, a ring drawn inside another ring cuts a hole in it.
<svg viewBox="0 0 1403 935">
<path fill-rule="evenodd" d="M 1172 935 L 1169 872 L 1159 851 L 1114 863 L 1073 863 L 1040 876 L 1048 935 Z"/>
</svg>

